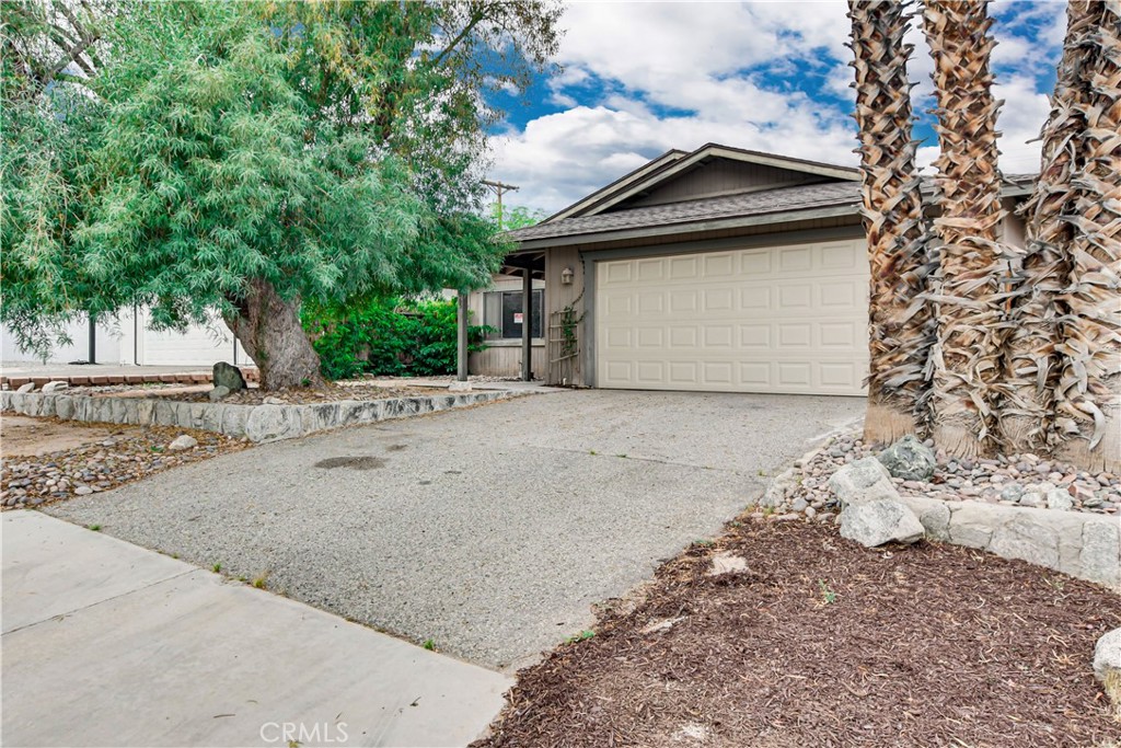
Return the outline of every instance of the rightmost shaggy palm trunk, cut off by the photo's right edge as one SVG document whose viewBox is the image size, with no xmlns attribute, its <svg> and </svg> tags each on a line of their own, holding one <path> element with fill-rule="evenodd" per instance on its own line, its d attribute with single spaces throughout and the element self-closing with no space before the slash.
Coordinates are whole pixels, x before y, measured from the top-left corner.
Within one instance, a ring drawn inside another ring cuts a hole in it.
<svg viewBox="0 0 1121 748">
<path fill-rule="evenodd" d="M 1083 3 L 1078 3 L 1080 9 Z M 1087 470 L 1121 470 L 1121 2 L 1092 2 L 1074 44 L 1085 128 L 1077 136 L 1071 285 L 1060 296 L 1059 458 Z"/>
</svg>

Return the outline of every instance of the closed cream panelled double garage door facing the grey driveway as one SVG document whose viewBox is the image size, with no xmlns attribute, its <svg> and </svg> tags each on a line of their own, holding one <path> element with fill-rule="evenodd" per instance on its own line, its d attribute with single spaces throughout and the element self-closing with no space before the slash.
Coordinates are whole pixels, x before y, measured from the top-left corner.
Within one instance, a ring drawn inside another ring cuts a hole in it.
<svg viewBox="0 0 1121 748">
<path fill-rule="evenodd" d="M 863 240 L 596 262 L 596 385 L 862 395 Z"/>
</svg>

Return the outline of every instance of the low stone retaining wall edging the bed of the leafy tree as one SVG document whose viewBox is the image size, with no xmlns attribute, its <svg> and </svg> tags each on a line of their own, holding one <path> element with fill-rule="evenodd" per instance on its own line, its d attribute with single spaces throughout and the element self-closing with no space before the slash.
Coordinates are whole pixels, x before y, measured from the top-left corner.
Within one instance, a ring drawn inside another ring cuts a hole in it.
<svg viewBox="0 0 1121 748">
<path fill-rule="evenodd" d="M 167 398 L 0 391 L 0 413 L 133 426 L 201 428 L 226 436 L 243 436 L 260 444 L 343 426 L 463 408 L 524 394 L 526 393 L 483 390 L 386 400 L 340 400 L 314 405 L 234 405 L 185 403 Z"/>
</svg>

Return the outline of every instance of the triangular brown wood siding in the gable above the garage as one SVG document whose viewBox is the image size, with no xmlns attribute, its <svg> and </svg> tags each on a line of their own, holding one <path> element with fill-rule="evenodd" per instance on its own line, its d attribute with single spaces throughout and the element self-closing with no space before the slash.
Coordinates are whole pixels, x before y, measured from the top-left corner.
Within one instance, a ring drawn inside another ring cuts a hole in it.
<svg viewBox="0 0 1121 748">
<path fill-rule="evenodd" d="M 698 200 L 701 197 L 730 194 L 744 190 L 765 190 L 826 181 L 828 181 L 826 177 L 806 174 L 805 172 L 793 172 L 762 164 L 747 164 L 726 158 L 715 158 L 683 174 L 668 184 L 656 187 L 649 194 L 639 194 L 626 200 L 619 205 L 611 207 L 608 212 L 628 207 L 665 205 L 666 203 Z"/>
</svg>

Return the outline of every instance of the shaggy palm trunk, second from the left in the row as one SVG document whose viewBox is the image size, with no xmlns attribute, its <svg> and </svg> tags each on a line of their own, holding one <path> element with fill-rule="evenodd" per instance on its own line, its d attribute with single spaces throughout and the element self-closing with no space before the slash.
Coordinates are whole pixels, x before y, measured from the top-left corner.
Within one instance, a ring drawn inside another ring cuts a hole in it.
<svg viewBox="0 0 1121 748">
<path fill-rule="evenodd" d="M 930 299 L 938 304 L 932 350 L 934 441 L 949 454 L 989 455 L 1008 338 L 1004 287 L 1012 257 L 999 241 L 1004 211 L 997 166 L 997 111 L 988 1 L 927 0 L 924 30 L 934 57 L 938 145 L 935 186 L 942 240 Z"/>
</svg>

